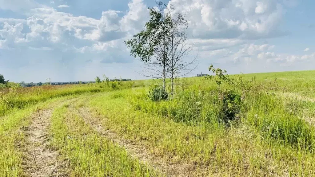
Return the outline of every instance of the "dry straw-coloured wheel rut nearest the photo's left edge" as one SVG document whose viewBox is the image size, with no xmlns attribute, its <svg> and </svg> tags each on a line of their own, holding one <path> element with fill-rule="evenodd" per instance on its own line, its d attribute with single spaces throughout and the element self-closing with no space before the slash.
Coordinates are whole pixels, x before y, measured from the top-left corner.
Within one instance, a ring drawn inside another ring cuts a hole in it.
<svg viewBox="0 0 315 177">
<path fill-rule="evenodd" d="M 53 177 L 64 176 L 58 172 L 57 151 L 49 149 L 50 136 L 48 128 L 52 110 L 43 110 L 31 116 L 31 124 L 24 127 L 26 135 L 26 146 L 24 150 L 24 169 L 26 176 L 31 177 Z"/>
</svg>

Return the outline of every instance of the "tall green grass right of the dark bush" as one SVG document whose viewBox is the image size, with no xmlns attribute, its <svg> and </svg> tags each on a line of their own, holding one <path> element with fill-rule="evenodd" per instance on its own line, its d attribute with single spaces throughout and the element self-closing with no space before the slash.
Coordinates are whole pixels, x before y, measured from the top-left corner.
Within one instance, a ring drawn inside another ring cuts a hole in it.
<svg viewBox="0 0 315 177">
<path fill-rule="evenodd" d="M 243 121 L 267 139 L 313 152 L 315 129 L 306 122 L 301 104 L 302 101 L 276 95 L 250 95 L 244 105 Z M 315 106 L 314 102 L 308 104 Z"/>
</svg>

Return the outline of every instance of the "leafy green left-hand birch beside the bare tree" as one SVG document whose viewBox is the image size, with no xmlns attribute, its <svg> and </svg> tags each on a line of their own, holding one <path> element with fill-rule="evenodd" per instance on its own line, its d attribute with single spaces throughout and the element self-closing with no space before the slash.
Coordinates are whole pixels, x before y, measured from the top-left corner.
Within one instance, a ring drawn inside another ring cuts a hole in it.
<svg viewBox="0 0 315 177">
<path fill-rule="evenodd" d="M 150 20 L 146 22 L 146 30 L 124 41 L 131 48 L 131 55 L 139 57 L 145 63 L 143 76 L 159 79 L 163 82 L 163 91 L 166 89 L 168 77 L 169 37 L 164 9 L 149 8 Z"/>
</svg>

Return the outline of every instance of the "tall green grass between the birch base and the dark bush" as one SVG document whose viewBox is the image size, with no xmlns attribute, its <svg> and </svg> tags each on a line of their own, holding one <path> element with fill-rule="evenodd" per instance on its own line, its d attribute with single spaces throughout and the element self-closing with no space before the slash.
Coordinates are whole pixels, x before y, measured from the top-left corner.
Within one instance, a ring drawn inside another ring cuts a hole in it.
<svg viewBox="0 0 315 177">
<path fill-rule="evenodd" d="M 171 118 L 175 122 L 207 121 L 219 123 L 222 103 L 215 90 L 209 92 L 188 90 L 175 98 L 153 102 L 147 99 L 145 89 L 130 98 L 135 110 Z"/>
</svg>

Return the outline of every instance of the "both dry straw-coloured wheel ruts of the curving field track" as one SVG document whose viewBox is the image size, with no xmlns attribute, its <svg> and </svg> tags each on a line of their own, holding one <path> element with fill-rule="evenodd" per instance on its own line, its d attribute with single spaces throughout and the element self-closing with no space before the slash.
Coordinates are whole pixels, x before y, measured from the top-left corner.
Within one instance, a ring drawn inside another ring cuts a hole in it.
<svg viewBox="0 0 315 177">
<path fill-rule="evenodd" d="M 69 101 L 69 100 L 68 100 Z M 117 146 L 123 147 L 130 157 L 139 159 L 141 162 L 152 166 L 155 170 L 170 177 L 195 176 L 193 168 L 189 164 L 174 164 L 167 157 L 157 157 L 146 147 L 133 140 L 126 140 L 122 136 L 113 133 L 102 125 L 100 117 L 96 117 L 86 107 L 75 108 L 76 101 L 71 101 L 68 110 L 77 112 L 84 122 L 93 127 L 101 136 L 112 140 Z M 51 144 L 52 136 L 49 133 L 50 118 L 53 109 L 39 110 L 31 116 L 31 123 L 23 127 L 26 135 L 23 151 L 23 169 L 26 176 L 30 177 L 53 177 L 68 176 L 69 169 L 60 165 L 59 152 Z"/>
</svg>

